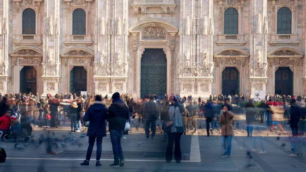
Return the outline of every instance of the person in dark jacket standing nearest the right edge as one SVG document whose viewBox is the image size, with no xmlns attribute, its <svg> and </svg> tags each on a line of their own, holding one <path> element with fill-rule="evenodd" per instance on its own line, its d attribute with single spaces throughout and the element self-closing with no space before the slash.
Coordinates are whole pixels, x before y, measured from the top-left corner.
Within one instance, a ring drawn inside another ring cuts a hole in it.
<svg viewBox="0 0 306 172">
<path fill-rule="evenodd" d="M 292 135 L 297 136 L 298 135 L 298 122 L 301 117 L 302 110 L 301 108 L 296 104 L 295 99 L 290 100 L 290 127 L 292 130 Z"/>
</svg>

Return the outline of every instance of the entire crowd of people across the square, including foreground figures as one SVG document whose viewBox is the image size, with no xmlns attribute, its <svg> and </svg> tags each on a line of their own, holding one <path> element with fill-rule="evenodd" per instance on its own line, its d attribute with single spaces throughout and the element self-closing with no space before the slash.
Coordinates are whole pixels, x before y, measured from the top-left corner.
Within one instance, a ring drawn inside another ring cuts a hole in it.
<svg viewBox="0 0 306 172">
<path fill-rule="evenodd" d="M 290 97 L 291 98 L 291 97 Z M 177 163 L 182 160 L 181 137 L 187 132 L 197 132 L 197 117 L 206 118 L 207 136 L 219 128 L 223 138 L 224 157 L 231 157 L 232 138 L 234 136 L 234 117 L 232 103 L 245 102 L 247 136 L 252 137 L 253 126 L 256 120 L 261 123 L 266 119 L 267 127 L 272 132 L 277 127 L 283 131 L 284 118 L 290 118 L 292 138 L 298 137 L 298 122 L 302 109 L 296 103 L 304 97 L 293 96 L 290 99 L 290 108 L 287 104 L 287 96 L 266 95 L 266 100 L 254 102 L 249 96 L 244 95 L 223 96 L 211 95 L 208 100 L 193 100 L 191 95 L 181 97 L 179 94 L 148 95 L 145 99 L 134 100 L 132 94 L 114 93 L 109 99 L 108 95 L 81 95 L 56 94 L 54 97 L 47 94 L 45 99 L 39 95 L 29 94 L 0 94 L 0 137 L 8 139 L 24 138 L 29 141 L 32 135 L 33 125 L 37 127 L 58 128 L 60 119 L 68 117 L 71 124 L 71 132 L 80 132 L 82 124 L 88 127 L 87 136 L 89 146 L 86 160 L 81 165 L 89 165 L 93 145 L 97 142 L 96 166 L 100 166 L 101 144 L 106 137 L 108 126 L 113 146 L 114 163 L 111 166 L 123 166 L 124 157 L 121 148 L 121 138 L 126 138 L 128 130 L 125 130 L 126 121 L 131 122 L 138 115 L 137 127 L 141 122 L 145 126 L 145 139 L 155 139 L 157 121 L 161 120 L 164 133 L 164 141 L 168 140 L 166 161 L 170 162 L 173 155 Z M 233 100 L 235 100 L 233 102 Z M 295 145 L 294 145 L 295 146 Z M 256 148 L 256 144 L 253 146 Z M 252 149 L 252 152 L 255 149 Z M 295 149 L 293 149 L 295 150 Z M 300 150 L 300 149 L 298 149 Z M 48 150 L 47 153 L 54 154 Z M 266 151 L 262 148 L 261 154 Z M 290 156 L 298 156 L 293 153 Z"/>
</svg>

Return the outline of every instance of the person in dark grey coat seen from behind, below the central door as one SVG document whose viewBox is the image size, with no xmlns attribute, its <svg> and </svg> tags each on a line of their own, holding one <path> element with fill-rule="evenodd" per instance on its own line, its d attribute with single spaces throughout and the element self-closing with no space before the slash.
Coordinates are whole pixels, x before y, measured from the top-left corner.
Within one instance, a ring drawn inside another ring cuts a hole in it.
<svg viewBox="0 0 306 172">
<path fill-rule="evenodd" d="M 152 135 L 151 138 L 155 139 L 156 133 L 156 120 L 159 118 L 158 105 L 154 101 L 154 95 L 150 95 L 150 101 L 148 101 L 143 107 L 143 120 L 145 120 L 145 138 L 149 139 L 151 125 Z"/>
</svg>

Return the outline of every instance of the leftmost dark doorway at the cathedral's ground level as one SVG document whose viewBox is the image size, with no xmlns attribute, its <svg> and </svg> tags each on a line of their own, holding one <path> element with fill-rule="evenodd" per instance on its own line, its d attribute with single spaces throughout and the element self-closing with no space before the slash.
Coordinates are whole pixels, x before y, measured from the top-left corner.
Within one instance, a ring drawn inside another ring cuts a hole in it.
<svg viewBox="0 0 306 172">
<path fill-rule="evenodd" d="M 20 92 L 37 93 L 37 72 L 33 66 L 24 66 L 20 71 Z"/>
</svg>

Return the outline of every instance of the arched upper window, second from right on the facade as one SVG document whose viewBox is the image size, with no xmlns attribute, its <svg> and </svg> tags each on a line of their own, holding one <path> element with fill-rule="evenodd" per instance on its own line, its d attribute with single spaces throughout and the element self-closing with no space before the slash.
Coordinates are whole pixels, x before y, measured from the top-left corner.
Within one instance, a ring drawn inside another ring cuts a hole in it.
<svg viewBox="0 0 306 172">
<path fill-rule="evenodd" d="M 235 8 L 224 12 L 224 35 L 238 35 L 238 11 Z"/>
</svg>

